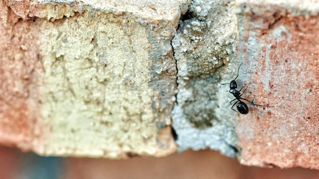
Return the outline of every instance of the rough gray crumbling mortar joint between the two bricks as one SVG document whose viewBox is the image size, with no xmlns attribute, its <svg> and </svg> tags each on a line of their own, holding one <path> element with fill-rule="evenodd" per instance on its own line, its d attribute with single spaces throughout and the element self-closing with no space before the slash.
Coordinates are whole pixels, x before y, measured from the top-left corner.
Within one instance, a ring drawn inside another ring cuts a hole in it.
<svg viewBox="0 0 319 179">
<path fill-rule="evenodd" d="M 236 75 L 240 64 L 235 56 L 236 32 L 234 2 L 193 1 L 180 20 L 172 40 L 178 68 L 172 126 L 178 151 L 208 147 L 235 157 L 240 150 L 231 120 L 234 111 L 229 105 L 229 86 L 215 79 L 230 81 L 228 78 Z M 215 72 L 223 64 L 229 67 Z"/>
</svg>

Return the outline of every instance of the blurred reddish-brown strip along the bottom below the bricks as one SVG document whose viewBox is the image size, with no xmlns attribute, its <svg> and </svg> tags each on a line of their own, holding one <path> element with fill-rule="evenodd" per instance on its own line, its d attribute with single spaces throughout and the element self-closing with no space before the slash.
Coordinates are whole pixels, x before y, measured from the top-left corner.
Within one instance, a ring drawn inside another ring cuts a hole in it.
<svg viewBox="0 0 319 179">
<path fill-rule="evenodd" d="M 185 151 L 165 158 L 109 160 L 40 157 L 0 147 L 0 178 L 319 178 L 305 168 L 259 168 L 240 165 L 219 152 Z"/>
</svg>

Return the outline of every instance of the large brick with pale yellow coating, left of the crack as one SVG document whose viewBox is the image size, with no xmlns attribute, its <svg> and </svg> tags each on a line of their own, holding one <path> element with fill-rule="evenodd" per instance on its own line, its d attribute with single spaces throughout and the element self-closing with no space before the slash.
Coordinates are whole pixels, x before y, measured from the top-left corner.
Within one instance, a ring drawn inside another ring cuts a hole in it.
<svg viewBox="0 0 319 179">
<path fill-rule="evenodd" d="M 42 155 L 174 153 L 170 43 L 187 1 L 163 3 L 3 1 L 1 142 Z"/>
</svg>

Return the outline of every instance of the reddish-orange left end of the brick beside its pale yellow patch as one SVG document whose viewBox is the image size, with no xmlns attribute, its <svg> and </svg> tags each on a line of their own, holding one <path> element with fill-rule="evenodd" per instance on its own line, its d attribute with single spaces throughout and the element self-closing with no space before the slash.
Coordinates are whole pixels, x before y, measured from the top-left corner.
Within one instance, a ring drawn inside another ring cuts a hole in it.
<svg viewBox="0 0 319 179">
<path fill-rule="evenodd" d="M 37 110 L 42 67 L 38 23 L 19 19 L 4 1 L 0 9 L 0 141 L 28 148 L 45 128 Z"/>
</svg>

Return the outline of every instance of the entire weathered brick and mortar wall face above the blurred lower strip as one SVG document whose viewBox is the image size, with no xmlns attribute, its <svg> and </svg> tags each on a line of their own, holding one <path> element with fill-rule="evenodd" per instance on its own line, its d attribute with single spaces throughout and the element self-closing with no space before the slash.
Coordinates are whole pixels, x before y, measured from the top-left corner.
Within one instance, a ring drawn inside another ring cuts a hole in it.
<svg viewBox="0 0 319 179">
<path fill-rule="evenodd" d="M 177 144 L 319 169 L 316 2 L 7 0 L 0 9 L 1 143 L 109 158 L 166 156 Z M 242 97 L 274 107 L 231 110 L 217 80 L 229 83 L 242 63 Z"/>
</svg>

